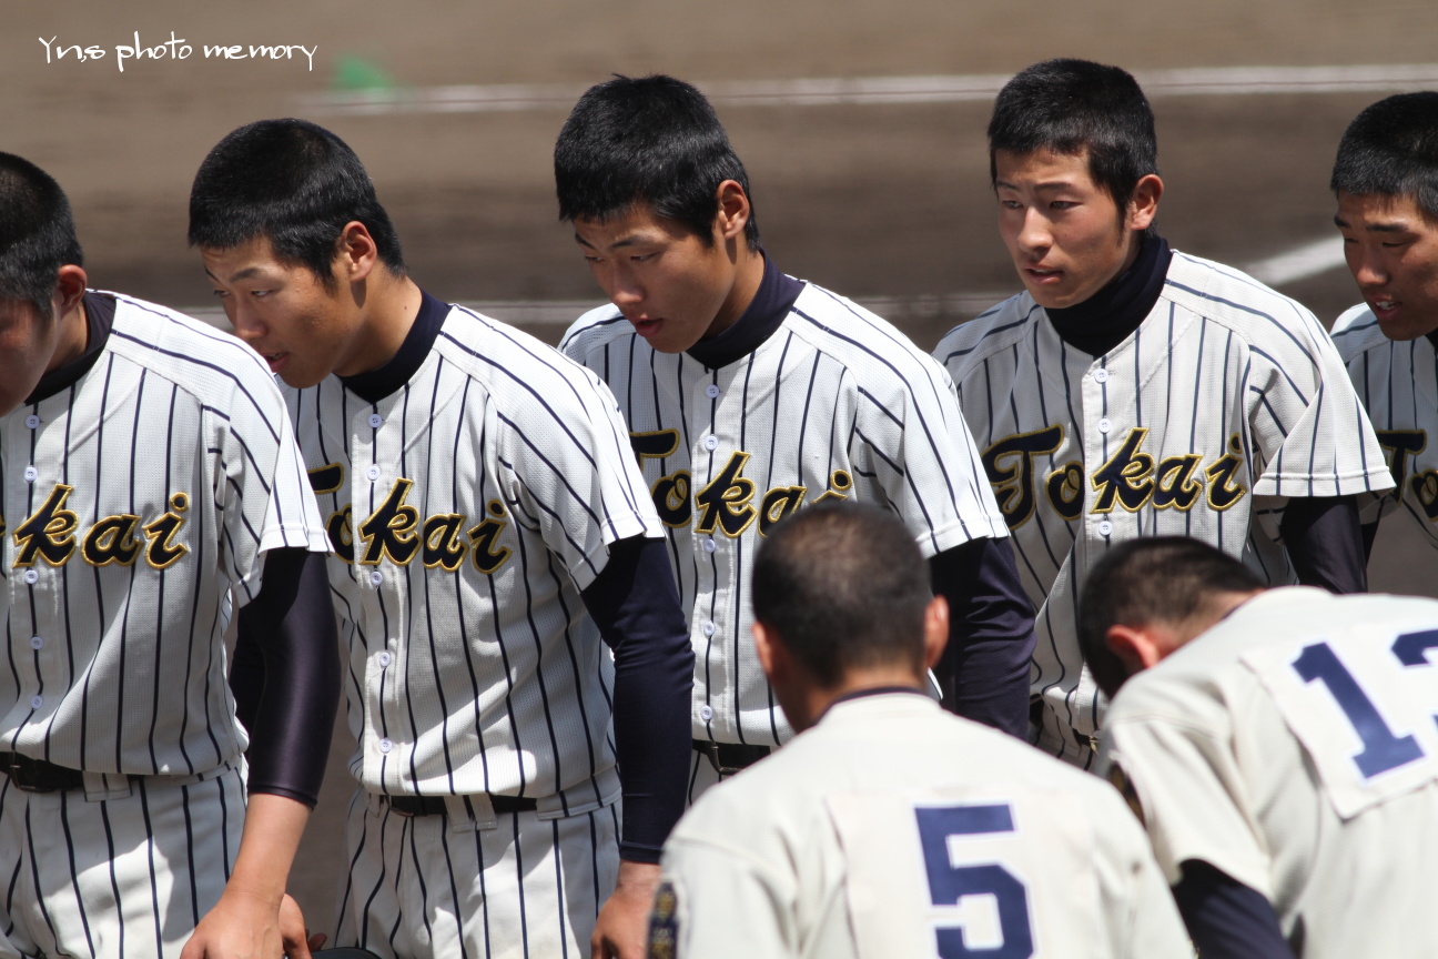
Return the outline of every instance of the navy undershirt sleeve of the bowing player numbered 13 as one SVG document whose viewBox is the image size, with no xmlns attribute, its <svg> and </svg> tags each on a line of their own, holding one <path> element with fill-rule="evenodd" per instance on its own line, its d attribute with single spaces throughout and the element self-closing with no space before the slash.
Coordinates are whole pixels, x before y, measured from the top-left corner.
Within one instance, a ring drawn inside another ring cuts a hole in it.
<svg viewBox="0 0 1438 959">
<path fill-rule="evenodd" d="M 1173 900 L 1204 959 L 1294 959 L 1273 904 L 1202 860 L 1188 860 Z"/>
</svg>

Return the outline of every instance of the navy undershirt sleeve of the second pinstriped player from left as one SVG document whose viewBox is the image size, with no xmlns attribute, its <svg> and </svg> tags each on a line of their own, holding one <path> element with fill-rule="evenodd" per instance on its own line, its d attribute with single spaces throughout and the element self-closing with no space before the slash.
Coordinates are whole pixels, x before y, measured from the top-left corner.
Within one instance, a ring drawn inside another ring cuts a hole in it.
<svg viewBox="0 0 1438 959">
<path fill-rule="evenodd" d="M 620 858 L 657 863 L 684 812 L 693 749 L 695 651 L 664 541 L 611 543 L 608 562 L 582 595 L 614 650 L 614 751 L 624 789 Z"/>
</svg>

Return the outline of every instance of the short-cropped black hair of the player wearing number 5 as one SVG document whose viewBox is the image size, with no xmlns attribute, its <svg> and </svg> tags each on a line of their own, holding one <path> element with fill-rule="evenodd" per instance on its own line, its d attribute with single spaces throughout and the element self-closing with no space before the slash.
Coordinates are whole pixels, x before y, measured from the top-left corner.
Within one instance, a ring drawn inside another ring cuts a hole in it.
<svg viewBox="0 0 1438 959">
<path fill-rule="evenodd" d="M 833 689 L 851 669 L 923 673 L 929 565 L 893 513 L 818 503 L 779 522 L 754 558 L 754 617 Z"/>
</svg>

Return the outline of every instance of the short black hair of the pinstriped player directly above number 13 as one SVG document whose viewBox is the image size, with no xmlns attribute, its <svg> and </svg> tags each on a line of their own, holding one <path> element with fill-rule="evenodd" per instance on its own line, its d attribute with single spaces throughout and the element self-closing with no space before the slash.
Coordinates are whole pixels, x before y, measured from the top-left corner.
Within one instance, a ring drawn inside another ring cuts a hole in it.
<svg viewBox="0 0 1438 959">
<path fill-rule="evenodd" d="M 1038 150 L 1087 154 L 1089 175 L 1120 216 L 1139 180 L 1159 171 L 1153 111 L 1137 81 L 1091 60 L 1044 60 L 1015 73 L 994 101 L 988 139 L 995 183 L 999 150 L 1021 157 Z"/>
</svg>

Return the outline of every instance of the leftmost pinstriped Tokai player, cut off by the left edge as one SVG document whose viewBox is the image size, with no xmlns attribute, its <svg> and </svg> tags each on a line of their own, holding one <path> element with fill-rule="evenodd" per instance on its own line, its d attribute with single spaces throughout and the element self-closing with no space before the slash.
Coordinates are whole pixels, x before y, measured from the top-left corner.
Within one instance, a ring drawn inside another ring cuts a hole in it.
<svg viewBox="0 0 1438 959">
<path fill-rule="evenodd" d="M 0 154 L 0 956 L 308 956 L 279 909 L 339 663 L 285 404 L 86 283 L 65 193 Z M 270 674 L 243 726 L 234 610 Z"/>
</svg>

